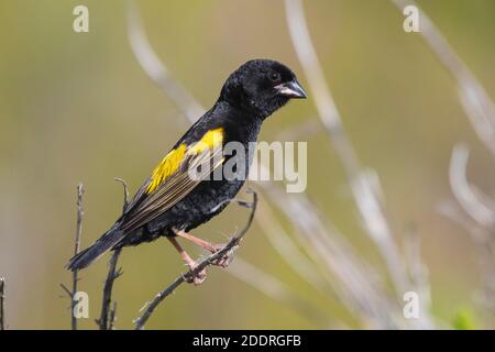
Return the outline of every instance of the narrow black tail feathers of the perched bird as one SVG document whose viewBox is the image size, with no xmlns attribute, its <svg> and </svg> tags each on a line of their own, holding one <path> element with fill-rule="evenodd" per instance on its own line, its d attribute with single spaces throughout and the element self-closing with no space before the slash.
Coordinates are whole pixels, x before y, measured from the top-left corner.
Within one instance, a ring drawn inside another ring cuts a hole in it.
<svg viewBox="0 0 495 352">
<path fill-rule="evenodd" d="M 110 230 L 86 250 L 73 256 L 66 267 L 70 271 L 81 270 L 98 260 L 123 238 L 123 231 L 116 223 Z"/>
</svg>

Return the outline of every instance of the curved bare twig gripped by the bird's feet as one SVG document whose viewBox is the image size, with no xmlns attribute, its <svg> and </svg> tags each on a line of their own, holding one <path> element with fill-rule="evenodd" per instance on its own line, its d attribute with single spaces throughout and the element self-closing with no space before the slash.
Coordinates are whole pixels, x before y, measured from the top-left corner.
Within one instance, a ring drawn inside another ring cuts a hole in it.
<svg viewBox="0 0 495 352">
<path fill-rule="evenodd" d="M 188 282 L 197 273 L 200 273 L 202 270 L 205 270 L 209 265 L 213 264 L 219 258 L 223 257 L 227 253 L 233 254 L 235 249 L 240 245 L 240 243 L 241 243 L 242 239 L 244 238 L 245 233 L 251 228 L 251 224 L 252 224 L 253 219 L 254 219 L 254 213 L 256 211 L 257 194 L 254 190 L 251 190 L 251 189 L 248 190 L 248 191 L 253 195 L 253 200 L 251 202 L 251 213 L 250 213 L 250 217 L 248 219 L 248 223 L 245 224 L 245 227 L 238 234 L 232 237 L 232 239 L 230 239 L 229 242 L 220 251 L 218 251 L 218 252 L 209 255 L 205 260 L 202 260 L 195 270 L 188 271 L 185 274 L 180 274 L 169 286 L 167 286 L 166 288 L 161 290 L 155 296 L 155 298 L 153 298 L 153 300 L 143 308 L 144 312 L 142 314 L 142 316 L 140 318 L 138 318 L 136 320 L 134 320 L 134 324 L 135 324 L 135 329 L 136 330 L 141 330 L 141 329 L 144 328 L 144 324 L 146 323 L 147 319 L 153 314 L 153 311 L 156 309 L 156 307 L 167 296 L 169 296 L 177 287 L 179 287 L 185 282 Z"/>
</svg>

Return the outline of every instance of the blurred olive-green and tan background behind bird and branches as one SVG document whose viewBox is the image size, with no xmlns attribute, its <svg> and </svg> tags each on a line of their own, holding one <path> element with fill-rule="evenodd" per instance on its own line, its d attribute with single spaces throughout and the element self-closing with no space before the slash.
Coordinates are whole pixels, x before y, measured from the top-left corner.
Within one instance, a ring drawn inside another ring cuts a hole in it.
<svg viewBox="0 0 495 352">
<path fill-rule="evenodd" d="M 470 69 L 495 97 L 495 2 L 419 1 Z M 90 32 L 73 31 L 73 9 L 89 8 Z M 270 57 L 306 78 L 277 1 L 139 1 L 150 42 L 174 77 L 206 107 L 227 76 L 250 58 Z M 344 128 L 366 166 L 380 175 L 388 212 L 403 245 L 404 233 L 421 239 L 429 268 L 433 315 L 449 327 L 473 308 L 481 285 L 477 251 L 466 231 L 436 209 L 453 199 L 449 160 L 453 145 L 471 148 L 469 177 L 495 195 L 493 156 L 479 142 L 459 102 L 455 82 L 419 34 L 403 30 L 404 16 L 385 0 L 306 1 L 311 37 Z M 0 1 L 0 276 L 7 278 L 11 329 L 68 329 L 76 186 L 82 182 L 82 245 L 119 216 L 124 178 L 134 191 L 189 123 L 146 77 L 127 36 L 125 2 Z M 383 263 L 360 226 L 349 185 L 311 97 L 266 121 L 261 139 L 315 121 L 308 141 L 307 193 L 360 255 Z M 232 206 L 195 231 L 212 241 L 242 227 L 244 210 Z M 290 230 L 286 219 L 280 221 Z M 186 245 L 196 256 L 202 254 Z M 245 261 L 278 278 L 346 327 L 356 327 L 338 300 L 311 289 L 271 246 L 258 224 L 241 250 Z M 107 255 L 80 273 L 96 328 Z M 125 250 L 124 275 L 114 287 L 117 326 L 132 328 L 139 309 L 184 270 L 164 240 Z M 251 286 L 209 270 L 200 287 L 184 286 L 161 306 L 148 329 L 328 328 L 298 315 Z"/>
</svg>

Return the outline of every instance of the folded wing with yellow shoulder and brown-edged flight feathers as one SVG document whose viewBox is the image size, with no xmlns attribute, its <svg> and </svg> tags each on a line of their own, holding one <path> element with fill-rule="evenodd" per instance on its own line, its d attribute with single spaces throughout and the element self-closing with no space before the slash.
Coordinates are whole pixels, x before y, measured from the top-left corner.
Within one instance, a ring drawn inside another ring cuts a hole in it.
<svg viewBox="0 0 495 352">
<path fill-rule="evenodd" d="M 156 166 L 127 210 L 121 229 L 131 232 L 170 209 L 223 162 L 223 130 L 179 144 Z"/>
</svg>

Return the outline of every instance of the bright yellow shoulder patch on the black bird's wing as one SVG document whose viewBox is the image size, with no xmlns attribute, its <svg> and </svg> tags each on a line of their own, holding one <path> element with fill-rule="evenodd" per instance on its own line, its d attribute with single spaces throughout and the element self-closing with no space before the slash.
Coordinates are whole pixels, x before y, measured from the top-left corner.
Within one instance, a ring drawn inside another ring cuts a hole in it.
<svg viewBox="0 0 495 352">
<path fill-rule="evenodd" d="M 187 155 L 197 155 L 206 150 L 220 145 L 222 142 L 223 129 L 219 128 L 208 131 L 201 140 L 190 146 L 183 143 L 175 150 L 172 150 L 153 170 L 146 194 L 153 193 L 164 180 L 173 175 Z"/>
</svg>

